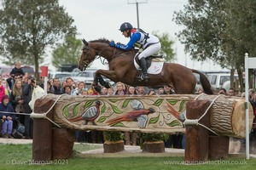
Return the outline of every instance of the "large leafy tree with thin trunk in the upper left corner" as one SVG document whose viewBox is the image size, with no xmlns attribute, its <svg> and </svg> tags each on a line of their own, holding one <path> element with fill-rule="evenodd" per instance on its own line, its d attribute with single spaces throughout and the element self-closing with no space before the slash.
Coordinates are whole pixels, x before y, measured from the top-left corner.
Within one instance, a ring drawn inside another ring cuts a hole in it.
<svg viewBox="0 0 256 170">
<path fill-rule="evenodd" d="M 67 35 L 75 35 L 76 27 L 72 25 L 72 17 L 58 0 L 3 0 L 0 49 L 4 62 L 22 60 L 23 64 L 35 65 L 38 73 L 46 48 Z"/>
</svg>

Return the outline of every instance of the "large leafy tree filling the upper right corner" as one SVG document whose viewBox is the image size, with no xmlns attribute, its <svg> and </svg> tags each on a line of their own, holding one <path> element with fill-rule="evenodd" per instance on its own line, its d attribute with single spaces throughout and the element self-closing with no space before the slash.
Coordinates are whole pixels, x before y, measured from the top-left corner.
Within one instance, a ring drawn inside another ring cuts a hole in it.
<svg viewBox="0 0 256 170">
<path fill-rule="evenodd" d="M 236 69 L 242 90 L 244 54 L 256 56 L 255 8 L 254 0 L 189 0 L 174 14 L 176 23 L 185 27 L 177 37 L 192 59 L 212 59 L 231 72 Z"/>
</svg>

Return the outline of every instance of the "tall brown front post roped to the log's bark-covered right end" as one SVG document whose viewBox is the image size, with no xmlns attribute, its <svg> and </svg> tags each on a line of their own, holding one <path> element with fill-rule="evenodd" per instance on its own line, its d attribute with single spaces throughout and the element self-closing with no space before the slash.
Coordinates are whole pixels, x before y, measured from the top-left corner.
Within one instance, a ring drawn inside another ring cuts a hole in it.
<svg viewBox="0 0 256 170">
<path fill-rule="evenodd" d="M 208 100 L 189 100 L 186 105 L 186 115 L 188 119 L 199 119 L 207 111 L 210 102 Z M 210 113 L 201 118 L 199 123 L 209 127 Z M 185 161 L 198 163 L 206 161 L 208 158 L 209 132 L 207 128 L 199 125 L 186 125 L 186 146 Z"/>
</svg>

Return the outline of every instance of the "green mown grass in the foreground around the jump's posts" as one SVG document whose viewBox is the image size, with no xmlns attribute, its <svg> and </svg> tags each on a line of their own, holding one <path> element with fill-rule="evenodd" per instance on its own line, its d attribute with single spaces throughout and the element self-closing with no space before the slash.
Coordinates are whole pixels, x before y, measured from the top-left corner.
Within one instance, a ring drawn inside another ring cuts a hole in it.
<svg viewBox="0 0 256 170">
<path fill-rule="evenodd" d="M 102 146 L 90 144 L 75 144 L 75 151 L 92 150 Z M 125 157 L 125 158 L 81 158 L 73 157 L 68 160 L 51 161 L 48 165 L 32 165 L 32 144 L 0 144 L 0 169 L 239 169 L 254 170 L 255 159 L 229 158 L 223 161 L 209 161 L 201 165 L 181 165 L 183 157 Z M 211 163 L 211 164 L 210 164 Z"/>
</svg>

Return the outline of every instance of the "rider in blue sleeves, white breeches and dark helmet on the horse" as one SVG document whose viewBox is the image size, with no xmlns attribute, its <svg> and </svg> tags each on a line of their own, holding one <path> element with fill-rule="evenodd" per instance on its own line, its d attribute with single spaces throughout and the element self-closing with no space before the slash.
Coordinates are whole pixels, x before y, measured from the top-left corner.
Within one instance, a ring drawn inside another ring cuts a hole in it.
<svg viewBox="0 0 256 170">
<path fill-rule="evenodd" d="M 161 45 L 159 38 L 146 33 L 142 29 L 133 28 L 129 22 L 123 23 L 120 26 L 119 31 L 121 31 L 125 37 L 130 37 L 130 42 L 128 42 L 127 45 L 119 43 L 115 44 L 114 42 L 110 42 L 109 45 L 111 47 L 121 48 L 125 50 L 129 50 L 133 48 L 133 46 L 138 46 L 140 50 L 135 56 L 138 55 L 140 65 L 142 67 L 142 75 L 141 77 L 137 78 L 148 82 L 148 72 L 145 58 L 157 53 L 160 50 Z"/>
</svg>

